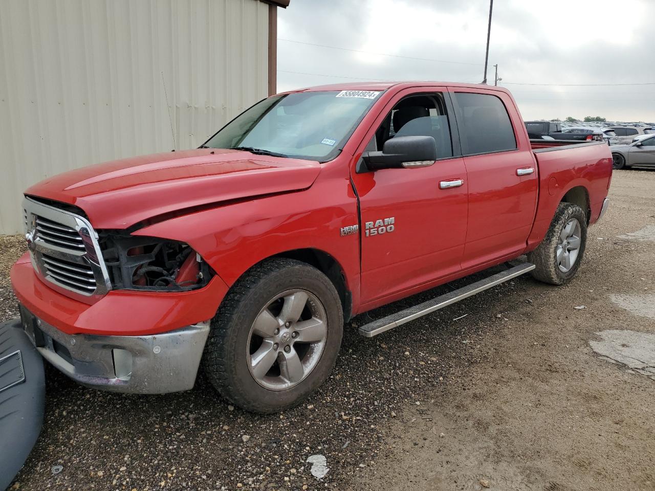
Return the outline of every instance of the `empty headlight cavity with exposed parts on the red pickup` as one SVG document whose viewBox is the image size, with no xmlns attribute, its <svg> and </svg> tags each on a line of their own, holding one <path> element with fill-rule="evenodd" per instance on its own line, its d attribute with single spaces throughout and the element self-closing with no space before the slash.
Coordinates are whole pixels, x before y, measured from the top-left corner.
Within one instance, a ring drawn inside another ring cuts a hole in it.
<svg viewBox="0 0 655 491">
<path fill-rule="evenodd" d="M 184 242 L 120 232 L 99 234 L 112 289 L 187 291 L 204 287 L 214 276 Z"/>
</svg>

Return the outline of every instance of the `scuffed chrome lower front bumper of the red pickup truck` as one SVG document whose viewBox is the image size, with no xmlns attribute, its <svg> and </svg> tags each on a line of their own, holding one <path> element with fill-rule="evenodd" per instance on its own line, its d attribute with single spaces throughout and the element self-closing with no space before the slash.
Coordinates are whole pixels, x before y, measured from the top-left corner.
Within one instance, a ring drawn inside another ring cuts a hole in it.
<svg viewBox="0 0 655 491">
<path fill-rule="evenodd" d="M 23 328 L 50 364 L 84 386 L 168 393 L 193 388 L 209 321 L 147 336 L 69 335 L 21 306 Z"/>
</svg>

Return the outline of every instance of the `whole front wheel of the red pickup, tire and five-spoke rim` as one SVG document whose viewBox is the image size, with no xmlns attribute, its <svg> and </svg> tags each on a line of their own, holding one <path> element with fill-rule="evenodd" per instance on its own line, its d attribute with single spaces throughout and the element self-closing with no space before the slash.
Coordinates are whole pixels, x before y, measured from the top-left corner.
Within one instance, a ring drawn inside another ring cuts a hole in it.
<svg viewBox="0 0 655 491">
<path fill-rule="evenodd" d="M 203 368 L 234 405 L 260 413 L 298 405 L 325 382 L 343 335 L 332 282 L 293 259 L 268 259 L 236 282 L 212 319 Z"/>
</svg>

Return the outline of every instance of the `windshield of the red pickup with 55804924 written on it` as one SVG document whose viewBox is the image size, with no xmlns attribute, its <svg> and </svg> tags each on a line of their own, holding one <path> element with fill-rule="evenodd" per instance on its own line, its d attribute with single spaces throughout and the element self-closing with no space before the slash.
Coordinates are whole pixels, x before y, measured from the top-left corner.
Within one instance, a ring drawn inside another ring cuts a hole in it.
<svg viewBox="0 0 655 491">
<path fill-rule="evenodd" d="M 203 146 L 325 162 L 335 158 L 380 92 L 273 96 L 234 118 Z"/>
</svg>

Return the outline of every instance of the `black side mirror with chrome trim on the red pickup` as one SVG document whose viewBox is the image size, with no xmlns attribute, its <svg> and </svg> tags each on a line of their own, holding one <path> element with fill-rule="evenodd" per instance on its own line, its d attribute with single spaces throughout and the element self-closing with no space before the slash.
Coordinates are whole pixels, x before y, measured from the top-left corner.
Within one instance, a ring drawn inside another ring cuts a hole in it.
<svg viewBox="0 0 655 491">
<path fill-rule="evenodd" d="M 437 145 L 431 136 L 396 136 L 381 152 L 364 152 L 362 160 L 367 170 L 427 167 L 437 160 Z"/>
</svg>

